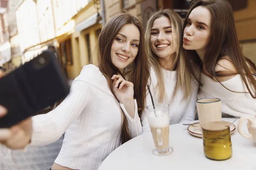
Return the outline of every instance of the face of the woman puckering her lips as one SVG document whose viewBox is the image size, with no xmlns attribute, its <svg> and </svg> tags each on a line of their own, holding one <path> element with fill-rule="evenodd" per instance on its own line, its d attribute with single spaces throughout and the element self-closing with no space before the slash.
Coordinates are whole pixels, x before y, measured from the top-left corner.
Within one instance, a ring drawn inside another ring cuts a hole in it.
<svg viewBox="0 0 256 170">
<path fill-rule="evenodd" d="M 205 53 L 211 33 L 211 18 L 210 11 L 203 6 L 191 11 L 185 23 L 183 48 L 196 50 L 200 54 Z"/>
</svg>

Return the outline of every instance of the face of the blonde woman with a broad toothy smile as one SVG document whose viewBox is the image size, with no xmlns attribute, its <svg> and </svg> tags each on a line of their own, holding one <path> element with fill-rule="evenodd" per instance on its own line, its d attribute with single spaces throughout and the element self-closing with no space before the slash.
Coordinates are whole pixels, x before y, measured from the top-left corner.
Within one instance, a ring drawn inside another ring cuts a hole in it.
<svg viewBox="0 0 256 170">
<path fill-rule="evenodd" d="M 154 20 L 150 32 L 150 46 L 154 54 L 161 58 L 168 58 L 175 53 L 176 41 L 172 32 L 171 21 L 162 16 Z"/>
</svg>

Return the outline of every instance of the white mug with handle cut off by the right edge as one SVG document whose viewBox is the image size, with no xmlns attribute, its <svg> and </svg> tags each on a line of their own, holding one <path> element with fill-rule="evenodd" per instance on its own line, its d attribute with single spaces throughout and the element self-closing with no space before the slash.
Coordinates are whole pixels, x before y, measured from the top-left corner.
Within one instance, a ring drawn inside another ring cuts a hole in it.
<svg viewBox="0 0 256 170">
<path fill-rule="evenodd" d="M 245 134 L 242 131 L 242 125 L 244 121 L 247 120 L 247 128 L 248 128 L 248 134 Z M 237 130 L 240 133 L 241 136 L 253 140 L 256 142 L 256 118 L 250 118 L 250 117 L 242 117 L 239 119 L 239 122 L 237 124 Z"/>
</svg>

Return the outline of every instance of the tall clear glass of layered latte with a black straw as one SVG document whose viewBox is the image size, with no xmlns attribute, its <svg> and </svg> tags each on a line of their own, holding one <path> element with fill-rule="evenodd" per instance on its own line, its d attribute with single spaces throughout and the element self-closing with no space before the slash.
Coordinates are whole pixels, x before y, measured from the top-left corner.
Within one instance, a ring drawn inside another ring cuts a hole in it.
<svg viewBox="0 0 256 170">
<path fill-rule="evenodd" d="M 149 105 L 145 109 L 151 134 L 156 149 L 152 153 L 156 156 L 168 155 L 173 152 L 169 146 L 169 105 Z"/>
</svg>

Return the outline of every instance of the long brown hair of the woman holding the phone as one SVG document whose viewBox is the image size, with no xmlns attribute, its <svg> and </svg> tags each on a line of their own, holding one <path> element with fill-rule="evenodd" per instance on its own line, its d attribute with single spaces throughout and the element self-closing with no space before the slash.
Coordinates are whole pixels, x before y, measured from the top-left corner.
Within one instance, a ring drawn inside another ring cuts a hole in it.
<svg viewBox="0 0 256 170">
<path fill-rule="evenodd" d="M 111 61 L 111 46 L 116 35 L 125 24 L 134 24 L 139 29 L 140 45 L 136 58 L 124 69 L 124 72 L 122 73 L 118 68 L 116 68 L 115 65 L 113 65 Z M 114 96 L 115 94 L 113 93 L 112 85 L 113 80 L 111 79 L 114 74 L 120 74 L 124 79 L 126 78 L 128 81 L 134 84 L 134 98 L 137 100 L 138 114 L 140 118 L 142 111 L 145 108 L 145 90 L 149 77 L 148 61 L 146 59 L 144 50 L 144 32 L 140 21 L 128 12 L 123 11 L 121 14 L 116 15 L 115 17 L 111 18 L 108 23 L 106 23 L 101 33 L 99 34 L 99 38 L 97 40 L 96 48 L 94 51 L 95 54 L 92 57 L 92 63 L 99 67 L 99 70 L 107 79 L 108 86 Z M 125 143 L 131 139 L 131 137 L 128 130 L 127 118 L 122 109 L 121 112 L 122 143 Z"/>
</svg>

